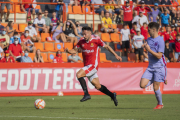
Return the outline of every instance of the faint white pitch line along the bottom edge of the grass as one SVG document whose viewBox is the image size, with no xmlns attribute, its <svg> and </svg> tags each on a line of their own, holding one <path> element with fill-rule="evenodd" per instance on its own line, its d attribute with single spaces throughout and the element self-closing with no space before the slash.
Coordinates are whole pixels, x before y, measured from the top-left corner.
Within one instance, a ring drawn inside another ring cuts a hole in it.
<svg viewBox="0 0 180 120">
<path fill-rule="evenodd" d="M 29 117 L 29 118 L 50 118 L 50 119 L 60 119 L 60 118 L 65 118 L 65 119 L 96 119 L 96 120 L 134 120 L 134 119 L 111 119 L 111 118 L 78 118 L 78 117 L 46 117 L 46 116 L 0 116 L 0 117 L 18 117 L 18 118 L 23 118 L 23 117 Z"/>
</svg>

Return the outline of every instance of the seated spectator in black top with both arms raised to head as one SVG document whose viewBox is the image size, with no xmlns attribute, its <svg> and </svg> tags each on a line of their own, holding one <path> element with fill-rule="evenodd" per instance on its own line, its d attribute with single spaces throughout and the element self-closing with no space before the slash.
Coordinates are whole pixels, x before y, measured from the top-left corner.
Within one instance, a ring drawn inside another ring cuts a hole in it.
<svg viewBox="0 0 180 120">
<path fill-rule="evenodd" d="M 77 40 L 76 36 L 81 37 L 77 33 L 76 25 L 71 20 L 64 22 L 63 32 L 66 36 L 66 42 L 77 43 L 78 40 Z"/>
</svg>

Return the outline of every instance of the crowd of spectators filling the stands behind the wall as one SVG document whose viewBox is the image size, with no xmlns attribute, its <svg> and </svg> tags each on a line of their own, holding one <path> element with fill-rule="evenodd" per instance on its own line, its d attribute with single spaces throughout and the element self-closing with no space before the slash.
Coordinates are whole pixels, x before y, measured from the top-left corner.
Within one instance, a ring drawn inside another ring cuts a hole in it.
<svg viewBox="0 0 180 120">
<path fill-rule="evenodd" d="M 0 0 L 9 2 L 10 0 Z M 53 0 L 56 2 L 52 17 L 48 17 L 49 11 L 36 9 L 35 4 L 27 4 L 23 2 L 32 2 L 32 0 L 19 0 L 21 2 L 20 9 L 23 12 L 31 13 L 32 20 L 28 20 L 27 27 L 23 32 L 15 29 L 14 22 L 9 21 L 11 5 L 9 3 L 1 4 L 0 18 L 0 58 L 1 62 L 46 62 L 41 52 L 36 48 L 36 43 L 41 43 L 43 33 L 48 33 L 45 39 L 55 43 L 72 43 L 75 45 L 82 37 L 82 26 L 79 21 L 73 22 L 66 18 L 63 22 L 62 12 L 63 5 L 66 7 L 66 16 L 68 16 L 68 6 L 85 6 L 88 5 L 95 13 L 101 17 L 101 29 L 93 32 L 93 38 L 100 38 L 99 34 L 118 34 L 120 41 L 118 44 L 122 48 L 122 56 L 135 54 L 135 62 L 147 62 L 147 52 L 143 48 L 143 43 L 149 37 L 148 24 L 150 22 L 158 22 L 160 24 L 159 35 L 165 41 L 165 56 L 167 62 L 180 61 L 180 12 L 176 6 L 159 6 L 159 5 L 178 5 L 175 0 Z M 93 4 L 102 4 L 94 5 Z M 112 4 L 112 5 L 111 5 Z M 115 5 L 114 5 L 115 4 Z M 7 16 L 5 22 L 7 26 L 3 26 L 2 16 L 5 7 L 7 8 Z M 114 27 L 114 24 L 123 25 L 122 28 Z M 46 51 L 47 52 L 47 51 Z M 53 63 L 63 63 L 62 53 L 60 50 L 56 52 Z M 34 53 L 34 58 L 28 56 Z M 83 60 L 77 54 L 68 56 L 68 62 L 82 62 Z"/>
</svg>

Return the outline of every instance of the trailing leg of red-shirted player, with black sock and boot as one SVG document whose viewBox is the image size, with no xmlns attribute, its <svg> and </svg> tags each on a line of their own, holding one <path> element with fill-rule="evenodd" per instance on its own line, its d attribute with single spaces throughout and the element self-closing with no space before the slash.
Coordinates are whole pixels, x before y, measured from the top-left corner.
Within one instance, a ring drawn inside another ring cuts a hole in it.
<svg viewBox="0 0 180 120">
<path fill-rule="evenodd" d="M 118 101 L 116 99 L 116 93 L 112 93 L 111 91 L 109 91 L 107 89 L 106 86 L 100 84 L 97 73 L 95 73 L 94 75 L 88 77 L 88 79 L 89 79 L 89 81 L 91 81 L 91 83 L 94 85 L 94 87 L 97 90 L 99 90 L 102 93 L 104 93 L 104 94 L 108 95 L 109 97 L 111 97 L 111 99 L 114 101 L 115 106 L 118 105 Z"/>
</svg>

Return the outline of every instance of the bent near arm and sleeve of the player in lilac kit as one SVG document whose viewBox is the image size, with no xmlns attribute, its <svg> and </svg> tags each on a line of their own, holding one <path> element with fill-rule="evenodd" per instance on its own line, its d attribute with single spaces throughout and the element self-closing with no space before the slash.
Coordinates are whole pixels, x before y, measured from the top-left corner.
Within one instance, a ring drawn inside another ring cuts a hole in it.
<svg viewBox="0 0 180 120">
<path fill-rule="evenodd" d="M 158 52 L 154 52 L 151 50 L 151 48 L 149 47 L 149 45 L 147 43 L 144 44 L 144 47 L 146 48 L 146 50 L 148 52 L 150 52 L 153 56 L 155 56 L 156 58 L 158 59 L 161 59 L 162 58 L 162 55 L 164 53 L 164 41 L 163 40 L 160 40 L 159 41 L 159 49 L 158 49 Z"/>
</svg>

